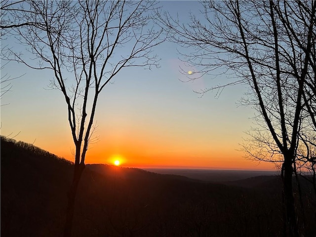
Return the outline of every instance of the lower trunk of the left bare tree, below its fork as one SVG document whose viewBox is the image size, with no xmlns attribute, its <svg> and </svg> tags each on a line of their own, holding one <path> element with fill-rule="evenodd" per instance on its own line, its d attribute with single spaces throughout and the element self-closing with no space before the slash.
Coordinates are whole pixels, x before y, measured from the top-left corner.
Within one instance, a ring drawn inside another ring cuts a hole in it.
<svg viewBox="0 0 316 237">
<path fill-rule="evenodd" d="M 83 172 L 84 164 L 75 164 L 73 183 L 68 191 L 68 203 L 66 212 L 66 221 L 64 227 L 64 237 L 71 237 L 71 231 L 73 226 L 74 210 L 75 210 L 75 199 L 78 189 L 79 180 Z"/>
</svg>

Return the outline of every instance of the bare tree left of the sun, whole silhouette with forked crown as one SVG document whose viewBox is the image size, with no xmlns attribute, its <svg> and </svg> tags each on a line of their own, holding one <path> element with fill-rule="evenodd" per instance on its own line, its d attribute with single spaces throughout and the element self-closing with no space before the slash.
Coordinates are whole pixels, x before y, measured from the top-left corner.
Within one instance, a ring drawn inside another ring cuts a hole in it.
<svg viewBox="0 0 316 237">
<path fill-rule="evenodd" d="M 162 42 L 162 31 L 152 24 L 157 9 L 153 1 L 28 1 L 23 7 L 23 11 L 12 11 L 11 17 L 39 24 L 12 28 L 10 34 L 28 52 L 23 55 L 8 49 L 6 59 L 51 70 L 50 86 L 65 98 L 75 143 L 64 229 L 64 236 L 69 237 L 98 97 L 122 69 L 158 66 L 153 47 Z M 35 59 L 28 60 L 29 54 Z"/>
</svg>

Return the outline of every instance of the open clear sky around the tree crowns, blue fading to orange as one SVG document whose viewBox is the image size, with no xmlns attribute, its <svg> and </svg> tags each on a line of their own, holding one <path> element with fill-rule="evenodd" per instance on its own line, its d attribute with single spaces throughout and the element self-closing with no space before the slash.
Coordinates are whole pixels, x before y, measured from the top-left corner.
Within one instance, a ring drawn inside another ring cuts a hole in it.
<svg viewBox="0 0 316 237">
<path fill-rule="evenodd" d="M 161 4 L 182 21 L 200 7 L 197 1 Z M 10 46 L 11 41 L 2 40 L 1 45 Z M 254 116 L 252 108 L 238 106 L 246 85 L 225 88 L 219 98 L 214 92 L 201 97 L 194 90 L 209 87 L 214 80 L 204 76 L 183 82 L 186 76 L 180 67 L 194 69 L 179 60 L 177 49 L 190 50 L 164 42 L 155 48 L 160 68 L 129 68 L 105 87 L 95 115 L 99 141 L 89 146 L 86 163 L 112 164 L 118 158 L 123 166 L 139 168 L 274 169 L 271 163 L 245 159 L 240 151 Z M 23 76 L 11 81 L 11 91 L 1 99 L 1 135 L 74 161 L 66 103 L 60 91 L 48 89 L 52 72 L 9 62 L 1 77 L 6 74 Z"/>
</svg>

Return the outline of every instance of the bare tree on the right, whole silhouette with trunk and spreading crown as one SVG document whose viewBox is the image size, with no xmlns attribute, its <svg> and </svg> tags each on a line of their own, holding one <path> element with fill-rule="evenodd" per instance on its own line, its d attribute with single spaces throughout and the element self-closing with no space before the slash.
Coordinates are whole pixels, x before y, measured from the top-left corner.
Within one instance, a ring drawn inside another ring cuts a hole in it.
<svg viewBox="0 0 316 237">
<path fill-rule="evenodd" d="M 302 229 L 297 223 L 292 177 L 298 157 L 303 156 L 298 154 L 304 143 L 302 134 L 316 135 L 316 3 L 201 3 L 203 20 L 191 14 L 191 23 L 185 25 L 167 13 L 160 20 L 173 34 L 172 41 L 194 49 L 188 54 L 179 50 L 183 60 L 197 68 L 187 73 L 189 80 L 229 75 L 227 82 L 200 93 L 214 89 L 220 93 L 224 87 L 239 83 L 249 85 L 242 102 L 257 110 L 259 126 L 250 133 L 253 139 L 245 150 L 251 158 L 281 163 L 284 232 L 298 237 Z M 303 150 L 306 152 L 310 145 Z"/>
</svg>

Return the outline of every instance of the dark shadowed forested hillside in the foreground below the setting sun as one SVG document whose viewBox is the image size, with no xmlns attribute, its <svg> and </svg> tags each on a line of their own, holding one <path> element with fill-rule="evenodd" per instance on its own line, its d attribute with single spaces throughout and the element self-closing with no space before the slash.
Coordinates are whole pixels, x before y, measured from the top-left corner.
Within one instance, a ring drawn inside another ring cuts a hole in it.
<svg viewBox="0 0 316 237">
<path fill-rule="evenodd" d="M 72 170 L 69 161 L 1 137 L 1 237 L 62 236 Z M 279 192 L 87 165 L 73 236 L 281 236 L 280 203 Z M 305 236 L 315 236 L 308 229 Z"/>
</svg>

